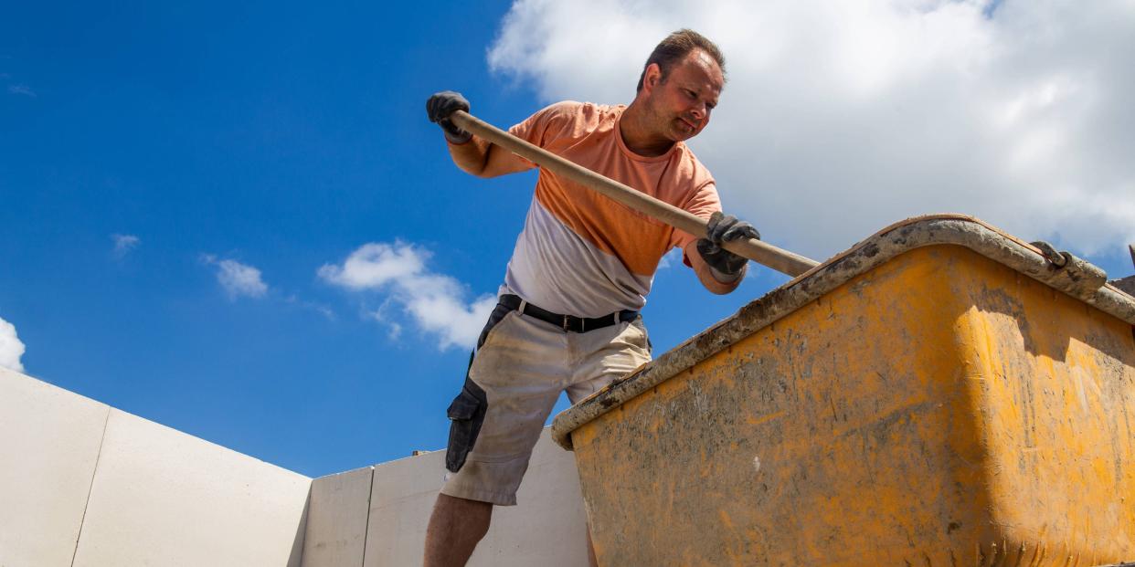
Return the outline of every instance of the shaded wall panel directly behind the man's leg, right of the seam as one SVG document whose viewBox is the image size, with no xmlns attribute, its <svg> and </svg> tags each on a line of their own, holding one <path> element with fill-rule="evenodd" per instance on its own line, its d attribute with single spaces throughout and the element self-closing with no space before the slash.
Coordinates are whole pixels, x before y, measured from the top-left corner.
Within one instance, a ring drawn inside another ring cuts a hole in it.
<svg viewBox="0 0 1135 567">
<path fill-rule="evenodd" d="M 445 475 L 445 451 L 375 466 L 365 567 L 421 565 L 426 526 Z M 587 565 L 587 519 L 575 460 L 548 430 L 516 494 L 497 507 L 471 567 Z"/>
</svg>

